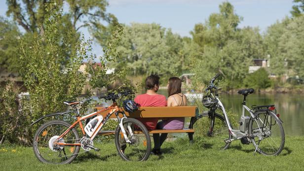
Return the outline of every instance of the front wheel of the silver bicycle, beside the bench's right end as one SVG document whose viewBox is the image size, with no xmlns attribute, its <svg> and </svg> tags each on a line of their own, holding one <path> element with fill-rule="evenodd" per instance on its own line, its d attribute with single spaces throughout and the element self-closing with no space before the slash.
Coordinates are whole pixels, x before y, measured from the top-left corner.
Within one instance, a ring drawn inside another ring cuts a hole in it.
<svg viewBox="0 0 304 171">
<path fill-rule="evenodd" d="M 195 130 L 194 135 L 203 136 L 206 138 L 207 143 L 220 150 L 225 150 L 229 147 L 231 142 L 226 143 L 226 138 L 231 139 L 232 136 L 228 131 L 227 123 L 224 117 L 218 113 L 214 113 L 215 123 L 214 129 L 210 134 L 211 118 L 208 113 L 201 114 L 201 117 L 196 118 L 193 121 L 193 129 Z M 215 133 L 214 133 L 215 132 Z M 222 137 L 224 136 L 225 137 Z M 220 143 L 222 141 L 223 143 Z M 195 143 L 195 142 L 194 142 Z"/>
</svg>

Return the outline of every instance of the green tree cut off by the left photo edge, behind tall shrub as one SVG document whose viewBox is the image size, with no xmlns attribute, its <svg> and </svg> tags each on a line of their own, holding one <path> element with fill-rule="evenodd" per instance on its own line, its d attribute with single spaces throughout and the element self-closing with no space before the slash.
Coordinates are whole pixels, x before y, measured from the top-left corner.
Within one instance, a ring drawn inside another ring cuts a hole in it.
<svg viewBox="0 0 304 171">
<path fill-rule="evenodd" d="M 0 70 L 18 72 L 20 32 L 15 23 L 0 17 Z"/>
</svg>

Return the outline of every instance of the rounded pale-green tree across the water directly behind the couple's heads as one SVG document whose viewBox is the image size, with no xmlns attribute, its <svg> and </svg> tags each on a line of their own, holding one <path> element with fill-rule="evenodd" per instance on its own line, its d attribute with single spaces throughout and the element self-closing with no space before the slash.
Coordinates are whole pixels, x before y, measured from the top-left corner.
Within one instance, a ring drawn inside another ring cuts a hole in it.
<svg viewBox="0 0 304 171">
<path fill-rule="evenodd" d="M 181 73 L 189 64 L 183 38 L 155 23 L 125 25 L 117 52 L 120 57 L 112 67 L 126 66 L 135 76 L 157 73 L 162 82 L 167 82 L 171 72 Z"/>
</svg>

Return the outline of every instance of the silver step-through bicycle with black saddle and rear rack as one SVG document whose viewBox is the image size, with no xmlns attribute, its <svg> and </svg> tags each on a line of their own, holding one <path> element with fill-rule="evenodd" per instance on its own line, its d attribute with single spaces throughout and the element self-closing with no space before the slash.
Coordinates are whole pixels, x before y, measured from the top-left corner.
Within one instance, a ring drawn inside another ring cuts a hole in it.
<svg viewBox="0 0 304 171">
<path fill-rule="evenodd" d="M 255 151 L 264 155 L 278 155 L 285 143 L 285 134 L 280 115 L 276 113 L 274 105 L 253 105 L 251 109 L 246 106 L 246 97 L 254 92 L 254 89 L 238 91 L 244 96 L 243 110 L 239 121 L 239 130 L 232 128 L 224 104 L 219 99 L 218 88 L 214 81 L 220 76 L 217 74 L 209 82 L 204 90 L 202 103 L 209 111 L 193 117 L 190 127 L 195 129 L 195 134 L 210 137 L 212 147 L 227 149 L 234 140 L 241 140 L 242 144 L 253 143 Z M 218 114 L 219 109 L 223 115 Z M 249 115 L 245 115 L 248 111 Z M 190 135 L 192 136 L 192 135 Z"/>
</svg>

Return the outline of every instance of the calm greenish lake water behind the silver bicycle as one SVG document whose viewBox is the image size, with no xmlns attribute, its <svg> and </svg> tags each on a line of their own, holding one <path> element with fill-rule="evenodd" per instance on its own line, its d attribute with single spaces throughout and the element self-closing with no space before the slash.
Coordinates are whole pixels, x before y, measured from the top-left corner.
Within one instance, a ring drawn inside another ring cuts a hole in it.
<svg viewBox="0 0 304 171">
<path fill-rule="evenodd" d="M 159 94 L 166 97 L 166 90 L 159 90 Z M 238 94 L 220 94 L 220 100 L 226 110 L 238 115 L 237 120 L 242 114 L 243 96 Z M 275 104 L 277 113 L 282 119 L 286 136 L 304 135 L 304 95 L 303 94 L 251 94 L 247 96 L 246 105 L 251 108 L 255 105 Z M 248 114 L 248 113 L 247 113 Z"/>
</svg>

